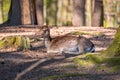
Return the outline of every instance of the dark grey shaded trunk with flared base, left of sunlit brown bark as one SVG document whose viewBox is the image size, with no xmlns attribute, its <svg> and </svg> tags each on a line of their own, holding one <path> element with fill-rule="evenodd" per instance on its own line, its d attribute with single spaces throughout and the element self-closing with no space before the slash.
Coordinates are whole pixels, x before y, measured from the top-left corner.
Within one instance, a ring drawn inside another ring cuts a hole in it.
<svg viewBox="0 0 120 80">
<path fill-rule="evenodd" d="M 8 13 L 8 21 L 0 26 L 12 26 L 21 24 L 20 0 L 11 0 L 11 6 Z"/>
</svg>

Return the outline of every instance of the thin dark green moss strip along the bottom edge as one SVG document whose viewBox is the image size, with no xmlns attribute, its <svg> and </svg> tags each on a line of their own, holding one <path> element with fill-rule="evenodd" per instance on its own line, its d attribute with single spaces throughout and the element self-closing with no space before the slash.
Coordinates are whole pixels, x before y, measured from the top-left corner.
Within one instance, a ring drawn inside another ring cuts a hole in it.
<svg viewBox="0 0 120 80">
<path fill-rule="evenodd" d="M 41 80 L 53 80 L 53 79 L 59 79 L 59 78 L 64 78 L 64 77 L 78 77 L 78 76 L 87 76 L 87 75 L 88 74 L 79 74 L 79 73 L 61 74 L 61 75 L 48 76 L 48 77 L 42 78 Z"/>
</svg>

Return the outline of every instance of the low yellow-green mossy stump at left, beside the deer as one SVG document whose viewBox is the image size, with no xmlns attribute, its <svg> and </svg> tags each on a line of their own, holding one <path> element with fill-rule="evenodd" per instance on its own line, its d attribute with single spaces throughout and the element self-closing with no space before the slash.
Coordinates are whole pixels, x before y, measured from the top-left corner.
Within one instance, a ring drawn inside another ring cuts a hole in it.
<svg viewBox="0 0 120 80">
<path fill-rule="evenodd" d="M 16 50 L 30 49 L 30 40 L 28 37 L 7 36 L 0 40 L 0 49 L 16 48 Z"/>
</svg>

